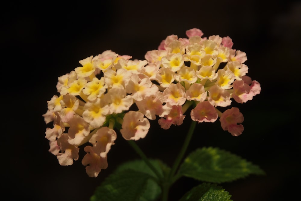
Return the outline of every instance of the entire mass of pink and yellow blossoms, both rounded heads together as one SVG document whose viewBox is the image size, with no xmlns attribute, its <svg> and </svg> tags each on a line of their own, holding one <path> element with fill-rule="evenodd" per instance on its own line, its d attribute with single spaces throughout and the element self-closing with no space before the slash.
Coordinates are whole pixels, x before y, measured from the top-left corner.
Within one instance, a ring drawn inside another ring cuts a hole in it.
<svg viewBox="0 0 301 201">
<path fill-rule="evenodd" d="M 59 95 L 47 101 L 43 117 L 46 124 L 53 121 L 45 137 L 60 165 L 72 165 L 79 146 L 90 143 L 82 164 L 90 177 L 97 177 L 108 166 L 115 130 L 126 140 L 139 140 L 150 128 L 149 119 L 159 117 L 161 128 L 169 129 L 183 123 L 190 107 L 193 121 L 220 117 L 223 130 L 242 133 L 239 109 L 221 112 L 217 107 L 231 105 L 231 98 L 244 103 L 260 93 L 260 84 L 246 76 L 246 54 L 232 49 L 228 36 L 207 39 L 196 28 L 186 35 L 167 36 L 157 50 L 146 53 L 146 60 L 107 50 L 80 60 L 82 66 L 58 78 Z"/>
</svg>

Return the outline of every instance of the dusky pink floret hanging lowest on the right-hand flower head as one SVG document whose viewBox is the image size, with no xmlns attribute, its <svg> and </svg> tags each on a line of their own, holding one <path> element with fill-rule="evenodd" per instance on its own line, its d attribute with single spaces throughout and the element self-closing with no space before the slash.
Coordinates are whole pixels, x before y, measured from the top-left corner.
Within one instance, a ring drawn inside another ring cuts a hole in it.
<svg viewBox="0 0 301 201">
<path fill-rule="evenodd" d="M 232 107 L 224 111 L 219 121 L 222 129 L 228 130 L 233 136 L 239 136 L 244 131 L 244 126 L 240 124 L 244 121 L 244 116 L 238 108 Z"/>
</svg>

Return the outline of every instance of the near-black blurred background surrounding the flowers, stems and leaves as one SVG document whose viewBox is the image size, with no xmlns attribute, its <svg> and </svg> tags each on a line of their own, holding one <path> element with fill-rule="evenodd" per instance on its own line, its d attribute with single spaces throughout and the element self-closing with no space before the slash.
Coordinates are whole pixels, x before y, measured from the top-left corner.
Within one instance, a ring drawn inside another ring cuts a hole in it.
<svg viewBox="0 0 301 201">
<path fill-rule="evenodd" d="M 109 167 L 97 178 L 81 159 L 60 166 L 48 152 L 42 114 L 57 95 L 57 78 L 80 66 L 79 60 L 112 50 L 144 59 L 166 36 L 230 36 L 234 49 L 247 53 L 248 75 L 261 83 L 252 101 L 234 104 L 244 115 L 244 132 L 233 137 L 219 121 L 198 124 L 188 152 L 220 147 L 259 165 L 266 176 L 250 175 L 221 184 L 234 201 L 291 200 L 299 192 L 299 93 L 301 4 L 265 1 L 75 1 L 69 5 L 8 2 L 1 11 L 2 195 L 9 200 L 89 200 L 118 164 L 138 159 L 121 136 L 108 154 Z M 4 71 L 3 71 L 4 70 Z M 298 116 L 297 116 L 298 115 Z M 137 143 L 151 158 L 172 165 L 190 124 L 151 130 Z M 171 189 L 178 200 L 200 182 L 180 179 Z"/>
</svg>

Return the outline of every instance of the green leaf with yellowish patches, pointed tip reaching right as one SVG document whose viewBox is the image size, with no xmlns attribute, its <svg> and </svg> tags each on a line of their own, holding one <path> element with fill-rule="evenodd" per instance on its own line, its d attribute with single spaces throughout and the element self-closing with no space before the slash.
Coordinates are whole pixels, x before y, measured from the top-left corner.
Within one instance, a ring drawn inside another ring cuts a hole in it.
<svg viewBox="0 0 301 201">
<path fill-rule="evenodd" d="M 212 183 L 229 182 L 249 174 L 265 174 L 251 162 L 218 148 L 202 148 L 192 152 L 181 165 L 178 174 Z"/>
</svg>

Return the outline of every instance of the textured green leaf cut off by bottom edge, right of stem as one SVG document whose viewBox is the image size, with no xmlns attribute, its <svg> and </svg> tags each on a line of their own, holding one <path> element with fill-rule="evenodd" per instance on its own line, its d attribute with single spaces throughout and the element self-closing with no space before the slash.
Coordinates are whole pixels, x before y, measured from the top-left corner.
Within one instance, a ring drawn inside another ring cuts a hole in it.
<svg viewBox="0 0 301 201">
<path fill-rule="evenodd" d="M 231 195 L 221 186 L 216 184 L 203 183 L 190 191 L 180 199 L 180 201 L 231 201 Z"/>
</svg>

